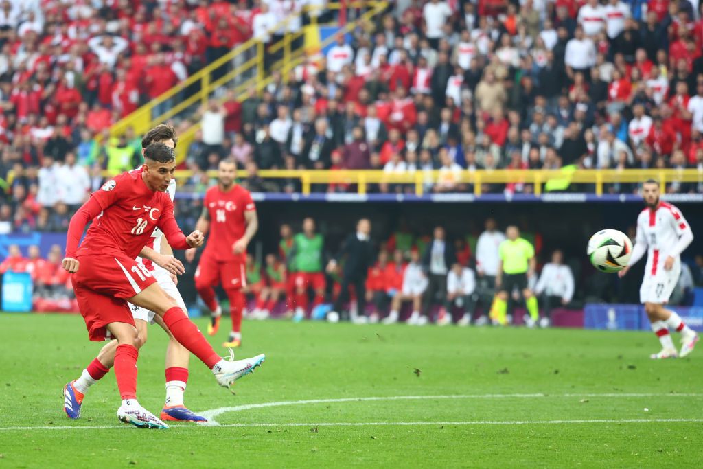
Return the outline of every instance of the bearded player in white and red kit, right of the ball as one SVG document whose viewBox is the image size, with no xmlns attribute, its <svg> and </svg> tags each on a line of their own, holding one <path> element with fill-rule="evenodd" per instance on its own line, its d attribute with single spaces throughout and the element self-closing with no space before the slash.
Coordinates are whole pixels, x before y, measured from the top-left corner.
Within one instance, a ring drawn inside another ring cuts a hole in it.
<svg viewBox="0 0 703 469">
<path fill-rule="evenodd" d="M 627 274 L 647 252 L 645 276 L 640 287 L 640 302 L 652 323 L 652 330 L 662 342 L 662 351 L 652 354 L 652 359 L 676 358 L 693 351 L 698 335 L 683 323 L 676 312 L 666 309 L 664 304 L 676 286 L 681 274 L 681 252 L 693 240 L 688 221 L 678 208 L 659 200 L 659 183 L 650 179 L 643 184 L 642 195 L 647 207 L 637 217 L 637 238 L 632 257 L 619 276 Z M 669 328 L 681 333 L 681 352 L 673 346 Z"/>
</svg>

